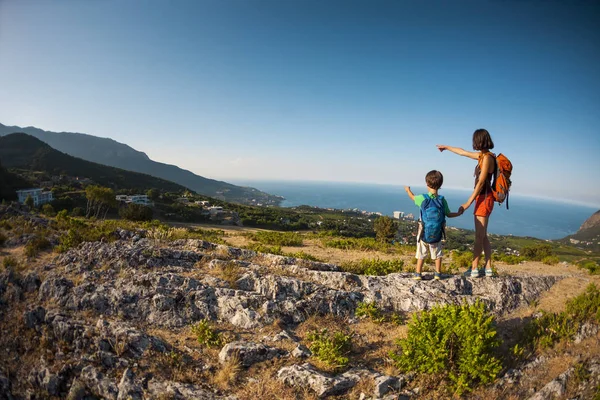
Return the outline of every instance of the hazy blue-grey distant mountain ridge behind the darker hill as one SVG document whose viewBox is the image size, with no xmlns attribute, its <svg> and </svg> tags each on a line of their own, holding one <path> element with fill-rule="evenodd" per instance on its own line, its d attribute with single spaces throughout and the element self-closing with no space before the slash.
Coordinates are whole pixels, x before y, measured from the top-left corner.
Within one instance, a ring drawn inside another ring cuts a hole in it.
<svg viewBox="0 0 600 400">
<path fill-rule="evenodd" d="M 217 199 L 242 204 L 279 204 L 281 201 L 280 197 L 255 188 L 205 178 L 176 165 L 153 161 L 144 152 L 113 139 L 84 133 L 51 132 L 35 127 L 0 124 L 0 136 L 16 132 L 34 136 L 52 148 L 73 157 L 162 178 Z"/>
</svg>

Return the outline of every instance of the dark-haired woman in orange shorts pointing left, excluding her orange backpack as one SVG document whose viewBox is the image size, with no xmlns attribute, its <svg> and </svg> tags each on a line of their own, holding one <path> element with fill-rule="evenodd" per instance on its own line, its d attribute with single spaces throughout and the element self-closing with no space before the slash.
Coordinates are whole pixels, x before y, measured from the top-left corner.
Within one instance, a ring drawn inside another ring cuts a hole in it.
<svg viewBox="0 0 600 400">
<path fill-rule="evenodd" d="M 440 151 L 450 150 L 459 156 L 469 157 L 478 160 L 475 167 L 475 189 L 466 203 L 461 208 L 462 211 L 468 209 L 471 203 L 475 201 L 474 221 L 475 221 L 475 246 L 473 249 L 473 264 L 470 270 L 465 272 L 466 276 L 479 277 L 479 259 L 481 250 L 485 254 L 485 276 L 492 276 L 492 247 L 487 236 L 487 226 L 494 208 L 494 196 L 492 194 L 492 177 L 496 171 L 496 156 L 490 150 L 494 148 L 494 142 L 490 133 L 485 129 L 477 129 L 473 133 L 473 150 L 466 151 L 459 147 L 446 146 L 438 144 Z"/>
</svg>

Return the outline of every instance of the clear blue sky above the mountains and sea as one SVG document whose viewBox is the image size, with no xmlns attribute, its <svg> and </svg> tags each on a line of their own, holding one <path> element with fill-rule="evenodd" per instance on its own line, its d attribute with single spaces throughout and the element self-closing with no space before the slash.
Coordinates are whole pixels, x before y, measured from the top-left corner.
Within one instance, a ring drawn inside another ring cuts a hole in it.
<svg viewBox="0 0 600 400">
<path fill-rule="evenodd" d="M 0 122 L 110 137 L 218 179 L 472 186 L 600 206 L 600 6 L 0 0 Z"/>
</svg>

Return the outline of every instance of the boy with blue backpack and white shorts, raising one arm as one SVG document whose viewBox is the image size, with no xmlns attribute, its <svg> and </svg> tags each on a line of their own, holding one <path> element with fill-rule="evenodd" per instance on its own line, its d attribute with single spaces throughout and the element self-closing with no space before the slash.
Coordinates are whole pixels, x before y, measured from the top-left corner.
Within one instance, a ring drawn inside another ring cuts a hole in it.
<svg viewBox="0 0 600 400">
<path fill-rule="evenodd" d="M 425 176 L 427 184 L 427 194 L 415 196 L 410 190 L 410 186 L 405 186 L 404 190 L 408 197 L 415 202 L 421 209 L 421 218 L 419 219 L 419 232 L 417 234 L 417 272 L 415 280 L 420 281 L 423 262 L 427 255 L 427 248 L 431 253 L 431 258 L 435 260 L 435 279 L 440 279 L 442 271 L 442 237 L 445 236 L 444 228 L 446 226 L 446 217 L 454 218 L 463 213 L 462 207 L 458 212 L 450 212 L 448 203 L 443 196 L 438 195 L 439 188 L 444 183 L 444 176 L 440 171 L 429 171 Z"/>
</svg>

